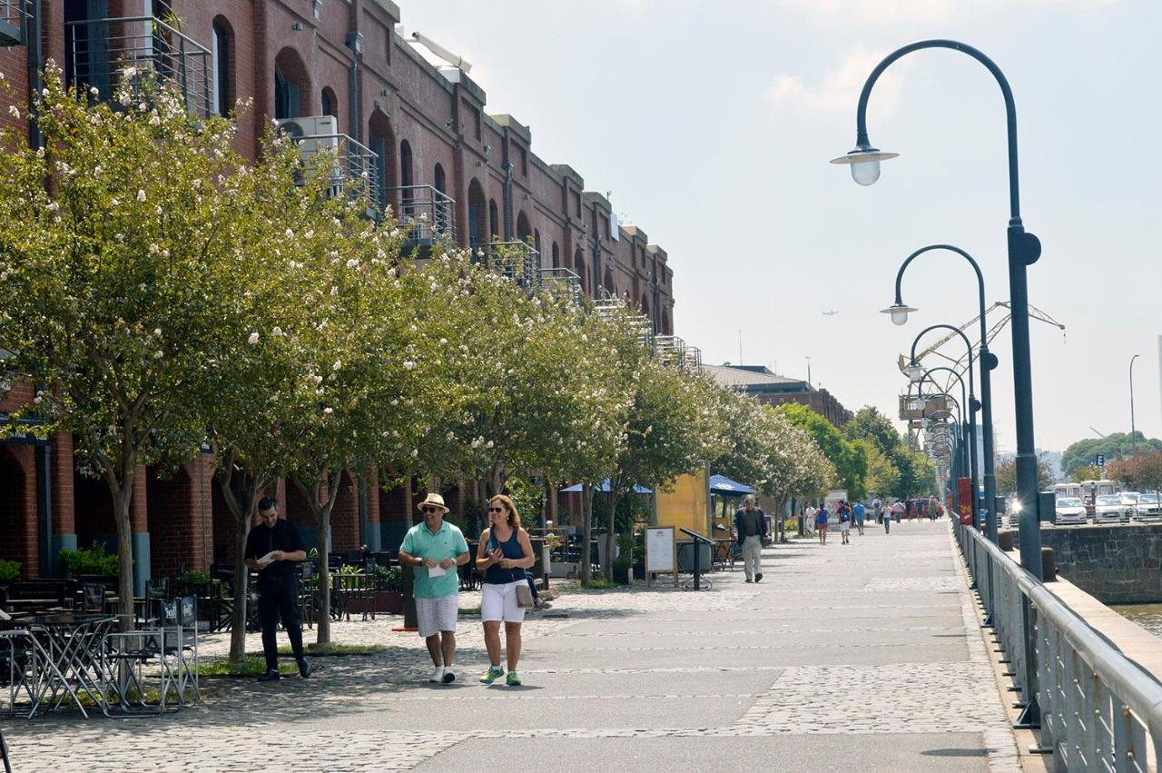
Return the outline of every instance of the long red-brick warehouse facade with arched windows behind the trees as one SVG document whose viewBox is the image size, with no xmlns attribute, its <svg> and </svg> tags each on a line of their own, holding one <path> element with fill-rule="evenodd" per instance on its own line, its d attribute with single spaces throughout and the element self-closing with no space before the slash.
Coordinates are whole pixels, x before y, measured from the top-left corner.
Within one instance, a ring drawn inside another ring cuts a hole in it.
<svg viewBox="0 0 1162 773">
<path fill-rule="evenodd" d="M 641 229 L 618 224 L 610 202 L 587 191 L 571 166 L 537 157 L 529 127 L 511 115 L 489 115 L 485 91 L 466 73 L 432 64 L 402 38 L 392 0 L 33 0 L 30 8 L 34 17 L 24 28 L 35 30 L 38 22 L 40 34 L 0 48 L 0 71 L 16 90 L 22 114 L 40 63 L 52 60 L 83 81 L 84 57 L 101 50 L 102 36 L 113 51 L 117 33 L 137 24 L 150 30 L 142 36 L 145 45 L 173 51 L 184 44 L 205 63 L 207 87 L 195 83 L 192 93 L 207 109 L 251 102 L 238 121 L 239 151 L 257 152 L 272 119 L 333 116 L 310 126 L 333 127 L 350 146 L 374 152 L 367 157 L 381 205 L 408 213 L 425 200 L 446 200 L 450 214 L 443 219 L 461 246 L 525 241 L 543 270 L 571 271 L 584 294 L 624 298 L 657 332 L 673 334 L 666 251 Z M 171 15 L 180 20 L 175 28 L 158 33 L 168 28 L 156 20 Z M 0 105 L 0 121 L 27 134 L 27 120 L 7 107 Z M 0 413 L 31 396 L 27 385 L 10 385 L 0 391 Z M 166 479 L 138 471 L 132 531 L 139 584 L 232 556 L 235 529 L 211 485 L 213 466 L 213 456 L 203 453 Z M 374 470 L 361 486 L 346 479 L 332 515 L 332 550 L 399 544 L 417 493 L 382 491 Z M 449 494 L 459 510 L 469 492 Z M 280 481 L 278 495 L 287 517 L 313 541 L 317 524 L 301 494 Z M 52 573 L 62 547 L 115 546 L 112 510 L 103 481 L 76 470 L 72 438 L 0 444 L 0 558 L 21 561 L 23 575 Z"/>
</svg>

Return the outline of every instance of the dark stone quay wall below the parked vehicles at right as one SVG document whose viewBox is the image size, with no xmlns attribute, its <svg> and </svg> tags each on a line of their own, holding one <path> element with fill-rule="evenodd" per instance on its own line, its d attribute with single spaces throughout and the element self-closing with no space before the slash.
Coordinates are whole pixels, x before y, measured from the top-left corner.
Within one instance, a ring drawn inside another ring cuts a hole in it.
<svg viewBox="0 0 1162 773">
<path fill-rule="evenodd" d="M 1106 604 L 1162 601 L 1162 524 L 1041 529 L 1057 572 Z"/>
</svg>

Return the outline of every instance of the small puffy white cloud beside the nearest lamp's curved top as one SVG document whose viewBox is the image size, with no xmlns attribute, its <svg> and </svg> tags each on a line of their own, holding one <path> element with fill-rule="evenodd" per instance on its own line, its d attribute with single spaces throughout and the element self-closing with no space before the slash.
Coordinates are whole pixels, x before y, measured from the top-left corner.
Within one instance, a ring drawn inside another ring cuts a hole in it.
<svg viewBox="0 0 1162 773">
<path fill-rule="evenodd" d="M 852 49 L 815 84 L 806 83 L 799 76 L 779 73 L 767 87 L 766 98 L 782 109 L 845 112 L 854 115 L 863 81 L 887 53 L 866 48 Z M 874 102 L 877 115 L 895 112 L 899 103 L 902 76 L 908 67 L 908 62 L 897 62 L 876 83 Z"/>
</svg>

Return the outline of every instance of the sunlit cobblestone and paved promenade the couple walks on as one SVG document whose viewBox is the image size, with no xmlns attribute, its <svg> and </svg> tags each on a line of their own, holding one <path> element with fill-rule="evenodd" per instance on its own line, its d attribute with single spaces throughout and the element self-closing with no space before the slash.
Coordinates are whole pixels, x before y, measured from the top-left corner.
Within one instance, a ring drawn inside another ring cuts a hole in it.
<svg viewBox="0 0 1162 773">
<path fill-rule="evenodd" d="M 763 560 L 754 585 L 734 571 L 697 594 L 562 596 L 551 614 L 567 616 L 524 625 L 519 688 L 476 683 L 475 620 L 461 618 L 457 681 L 435 686 L 419 638 L 381 617 L 332 638 L 385 652 L 316 658 L 310 680 L 205 680 L 205 701 L 162 718 L 6 720 L 5 733 L 17 772 L 1019 770 L 946 523 Z M 207 637 L 201 653 L 228 646 Z"/>
</svg>

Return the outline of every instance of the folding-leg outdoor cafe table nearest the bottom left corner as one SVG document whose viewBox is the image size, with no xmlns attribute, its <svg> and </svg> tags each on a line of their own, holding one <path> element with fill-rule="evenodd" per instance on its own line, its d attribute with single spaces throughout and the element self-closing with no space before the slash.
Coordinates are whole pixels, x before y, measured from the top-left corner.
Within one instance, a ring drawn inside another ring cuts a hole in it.
<svg viewBox="0 0 1162 773">
<path fill-rule="evenodd" d="M 113 615 L 52 613 L 14 615 L 0 622 L 0 636 L 27 636 L 37 657 L 33 658 L 33 707 L 29 717 L 41 706 L 57 709 L 65 696 L 73 699 L 80 713 L 88 717 L 80 696 L 88 695 L 101 711 L 108 714 L 102 688 L 101 647 L 105 635 L 116 624 Z"/>
</svg>

